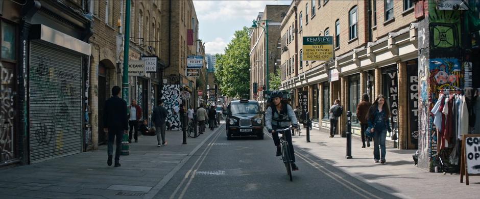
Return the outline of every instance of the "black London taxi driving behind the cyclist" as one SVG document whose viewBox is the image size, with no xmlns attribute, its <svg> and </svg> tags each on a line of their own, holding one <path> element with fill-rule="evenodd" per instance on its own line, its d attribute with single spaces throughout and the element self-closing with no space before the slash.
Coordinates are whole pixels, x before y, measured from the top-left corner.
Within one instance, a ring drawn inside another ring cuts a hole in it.
<svg viewBox="0 0 480 199">
<path fill-rule="evenodd" d="M 231 101 L 224 112 L 227 139 L 232 139 L 233 136 L 257 136 L 258 139 L 263 139 L 262 113 L 255 100 Z"/>
</svg>

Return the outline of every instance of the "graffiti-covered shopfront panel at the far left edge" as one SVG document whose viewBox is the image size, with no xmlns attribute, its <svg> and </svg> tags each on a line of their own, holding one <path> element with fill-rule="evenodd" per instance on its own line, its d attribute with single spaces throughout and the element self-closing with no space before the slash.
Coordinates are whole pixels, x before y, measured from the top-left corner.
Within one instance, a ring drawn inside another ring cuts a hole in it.
<svg viewBox="0 0 480 199">
<path fill-rule="evenodd" d="M 13 70 L 0 63 L 0 163 L 15 158 L 13 121 L 15 92 L 12 90 Z"/>
</svg>

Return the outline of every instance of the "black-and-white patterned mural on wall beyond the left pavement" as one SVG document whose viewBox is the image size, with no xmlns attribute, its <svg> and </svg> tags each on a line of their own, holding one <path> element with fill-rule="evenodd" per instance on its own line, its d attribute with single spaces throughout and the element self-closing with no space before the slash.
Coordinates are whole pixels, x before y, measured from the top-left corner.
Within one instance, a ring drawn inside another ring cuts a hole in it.
<svg viewBox="0 0 480 199">
<path fill-rule="evenodd" d="M 180 116 L 174 114 L 174 107 L 180 106 L 180 85 L 178 84 L 165 84 L 162 89 L 163 106 L 169 112 L 167 122 L 170 123 L 172 130 L 180 129 Z"/>
</svg>

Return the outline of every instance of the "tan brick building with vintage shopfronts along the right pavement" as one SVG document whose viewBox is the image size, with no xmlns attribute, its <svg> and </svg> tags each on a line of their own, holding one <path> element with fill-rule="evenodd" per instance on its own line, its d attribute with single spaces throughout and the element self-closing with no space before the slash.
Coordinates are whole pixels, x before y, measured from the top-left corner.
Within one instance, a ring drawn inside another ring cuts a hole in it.
<svg viewBox="0 0 480 199">
<path fill-rule="evenodd" d="M 362 94 L 368 93 L 371 102 L 383 94 L 394 113 L 394 132 L 399 133 L 398 140 L 388 134 L 388 144 L 401 149 L 417 147 L 416 129 L 411 129 L 416 116 L 407 114 L 417 107 L 409 107 L 407 93 L 399 92 L 409 88 L 407 79 L 412 75 L 407 72 L 417 70 L 413 6 L 412 1 L 292 2 L 281 23 L 281 88 L 291 91 L 294 105 L 300 91 L 308 93 L 307 110 L 314 127 L 330 128 L 329 107 L 340 99 L 345 113 L 352 111 L 352 131 L 359 135 L 355 112 Z M 306 36 L 331 36 L 333 60 L 303 61 L 302 38 Z M 346 119 L 344 114 L 339 122 L 342 136 Z"/>
</svg>

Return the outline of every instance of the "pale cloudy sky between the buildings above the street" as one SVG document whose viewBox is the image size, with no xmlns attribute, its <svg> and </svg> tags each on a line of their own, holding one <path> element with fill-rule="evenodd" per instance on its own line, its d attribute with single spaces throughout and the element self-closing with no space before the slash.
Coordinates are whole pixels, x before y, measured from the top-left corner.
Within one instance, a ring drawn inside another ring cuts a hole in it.
<svg viewBox="0 0 480 199">
<path fill-rule="evenodd" d="M 290 5 L 292 1 L 194 1 L 199 39 L 205 53 L 224 53 L 235 31 L 250 27 L 266 5 Z"/>
</svg>

